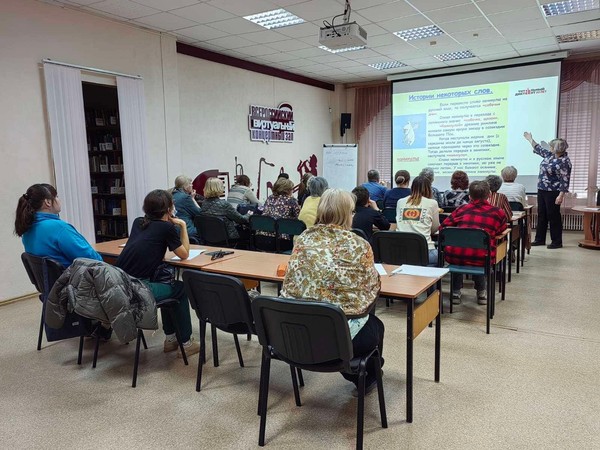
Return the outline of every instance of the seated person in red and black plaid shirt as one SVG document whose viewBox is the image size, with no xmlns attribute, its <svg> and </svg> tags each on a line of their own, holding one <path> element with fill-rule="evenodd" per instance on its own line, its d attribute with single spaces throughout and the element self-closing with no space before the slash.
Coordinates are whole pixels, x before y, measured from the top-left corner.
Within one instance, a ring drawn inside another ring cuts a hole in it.
<svg viewBox="0 0 600 450">
<path fill-rule="evenodd" d="M 492 255 L 496 257 L 496 240 L 494 237 L 506 229 L 506 214 L 500 208 L 490 205 L 487 198 L 490 195 L 490 186 L 485 181 L 473 181 L 469 186 L 471 201 L 456 209 L 442 225 L 440 231 L 446 227 L 481 228 L 491 237 Z M 462 266 L 478 266 L 485 264 L 485 250 L 472 248 L 446 247 L 444 250 L 446 262 Z M 473 282 L 477 290 L 477 303 L 485 305 L 487 295 L 485 290 L 485 276 L 473 275 Z M 452 303 L 460 304 L 461 289 L 463 286 L 462 273 L 452 274 Z"/>
</svg>

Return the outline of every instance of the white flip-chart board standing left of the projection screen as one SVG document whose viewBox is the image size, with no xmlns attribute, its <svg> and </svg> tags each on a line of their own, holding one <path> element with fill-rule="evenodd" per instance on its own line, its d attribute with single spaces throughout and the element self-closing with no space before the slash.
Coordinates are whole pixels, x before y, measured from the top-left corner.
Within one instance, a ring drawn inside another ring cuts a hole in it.
<svg viewBox="0 0 600 450">
<path fill-rule="evenodd" d="M 352 191 L 356 187 L 358 146 L 356 144 L 323 145 L 323 177 L 330 188 Z"/>
</svg>

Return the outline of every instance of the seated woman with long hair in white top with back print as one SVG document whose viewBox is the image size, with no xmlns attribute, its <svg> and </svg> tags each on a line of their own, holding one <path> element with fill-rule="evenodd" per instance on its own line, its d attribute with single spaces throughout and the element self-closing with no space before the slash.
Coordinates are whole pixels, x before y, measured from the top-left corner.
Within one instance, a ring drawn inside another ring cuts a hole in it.
<svg viewBox="0 0 600 450">
<path fill-rule="evenodd" d="M 440 226 L 437 201 L 433 200 L 431 181 L 419 175 L 413 180 L 410 196 L 398 200 L 396 230 L 419 233 L 425 236 L 429 249 L 429 265 L 437 266 L 437 249 L 431 239 Z"/>
</svg>

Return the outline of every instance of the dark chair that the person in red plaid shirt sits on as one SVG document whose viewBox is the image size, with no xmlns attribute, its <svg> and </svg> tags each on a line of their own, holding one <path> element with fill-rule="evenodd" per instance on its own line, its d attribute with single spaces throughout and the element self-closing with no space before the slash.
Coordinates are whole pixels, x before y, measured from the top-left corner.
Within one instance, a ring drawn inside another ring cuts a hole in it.
<svg viewBox="0 0 600 450">
<path fill-rule="evenodd" d="M 491 238 L 490 235 L 480 228 L 442 228 L 438 239 L 438 265 L 444 266 L 444 253 L 446 247 L 460 247 L 484 250 L 485 262 L 483 267 L 461 266 L 449 264 L 447 268 L 450 271 L 450 293 L 453 292 L 452 274 L 462 273 L 466 275 L 485 275 L 487 292 L 486 309 L 486 333 L 490 334 L 490 320 L 494 317 L 494 301 L 496 286 L 496 271 L 492 267 L 491 259 Z M 452 295 L 452 294 L 451 294 Z M 450 313 L 452 313 L 452 298 L 450 299 Z"/>
</svg>

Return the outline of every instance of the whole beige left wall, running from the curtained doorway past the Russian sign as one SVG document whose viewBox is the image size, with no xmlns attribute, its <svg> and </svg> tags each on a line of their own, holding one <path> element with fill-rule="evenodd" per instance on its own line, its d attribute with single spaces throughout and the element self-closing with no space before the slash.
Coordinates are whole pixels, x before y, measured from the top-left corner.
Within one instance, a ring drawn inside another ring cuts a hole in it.
<svg viewBox="0 0 600 450">
<path fill-rule="evenodd" d="M 44 58 L 143 77 L 151 188 L 170 186 L 182 171 L 233 173 L 236 155 L 254 182 L 261 156 L 277 165 L 263 180 L 280 165 L 295 174 L 301 158 L 320 159 L 322 144 L 332 140 L 329 106 L 337 93 L 178 55 L 168 35 L 39 1 L 1 0 L 0 302 L 33 292 L 19 258 L 23 247 L 12 234 L 17 199 L 33 183 L 54 181 Z M 294 107 L 294 144 L 251 143 L 248 105 L 280 101 Z"/>
</svg>

